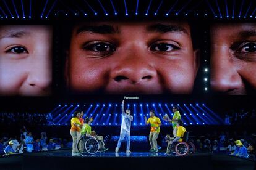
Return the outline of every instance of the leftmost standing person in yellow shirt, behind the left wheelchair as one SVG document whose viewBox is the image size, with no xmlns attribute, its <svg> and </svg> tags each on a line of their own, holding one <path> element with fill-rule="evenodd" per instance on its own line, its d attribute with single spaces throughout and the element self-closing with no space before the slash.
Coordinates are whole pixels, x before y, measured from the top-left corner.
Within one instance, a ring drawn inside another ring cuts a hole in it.
<svg viewBox="0 0 256 170">
<path fill-rule="evenodd" d="M 75 111 L 74 116 L 71 119 L 71 129 L 70 129 L 70 134 L 73 139 L 72 156 L 80 155 L 77 150 L 77 142 L 80 138 L 80 129 L 82 128 L 79 118 L 80 118 L 80 111 Z"/>
</svg>

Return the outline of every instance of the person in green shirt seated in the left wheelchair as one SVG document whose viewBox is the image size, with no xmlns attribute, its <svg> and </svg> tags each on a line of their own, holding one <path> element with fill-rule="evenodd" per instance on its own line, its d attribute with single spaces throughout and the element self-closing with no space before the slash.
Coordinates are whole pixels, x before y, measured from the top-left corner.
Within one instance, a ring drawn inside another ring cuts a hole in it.
<svg viewBox="0 0 256 170">
<path fill-rule="evenodd" d="M 98 140 L 100 144 L 100 152 L 104 152 L 108 150 L 108 148 L 105 148 L 105 143 L 103 140 L 103 136 L 98 136 L 95 131 L 92 131 L 92 127 L 90 124 L 92 123 L 93 118 L 85 118 L 85 124 L 83 124 L 81 135 L 85 138 L 93 138 L 95 140 Z"/>
</svg>

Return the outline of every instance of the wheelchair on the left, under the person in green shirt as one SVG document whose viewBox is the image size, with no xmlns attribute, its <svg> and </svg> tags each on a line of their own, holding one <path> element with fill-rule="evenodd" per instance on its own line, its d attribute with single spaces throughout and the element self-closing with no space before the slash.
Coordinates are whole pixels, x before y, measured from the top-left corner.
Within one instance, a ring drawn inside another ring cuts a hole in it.
<svg viewBox="0 0 256 170">
<path fill-rule="evenodd" d="M 93 155 L 100 150 L 100 147 L 102 147 L 101 142 L 86 136 L 82 136 L 77 144 L 77 149 L 82 155 L 87 153 Z"/>
</svg>

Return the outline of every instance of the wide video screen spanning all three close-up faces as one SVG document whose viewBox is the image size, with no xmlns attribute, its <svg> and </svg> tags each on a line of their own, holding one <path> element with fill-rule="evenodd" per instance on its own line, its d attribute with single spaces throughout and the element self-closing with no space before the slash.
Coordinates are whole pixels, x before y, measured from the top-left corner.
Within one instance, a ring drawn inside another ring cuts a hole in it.
<svg viewBox="0 0 256 170">
<path fill-rule="evenodd" d="M 0 95 L 252 95 L 255 30 L 187 20 L 1 25 Z"/>
</svg>

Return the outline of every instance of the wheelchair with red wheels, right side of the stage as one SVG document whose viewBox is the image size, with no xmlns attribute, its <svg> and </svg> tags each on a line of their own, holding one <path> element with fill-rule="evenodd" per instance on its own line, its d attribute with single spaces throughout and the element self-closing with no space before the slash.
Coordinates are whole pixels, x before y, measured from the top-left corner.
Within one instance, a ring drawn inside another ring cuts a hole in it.
<svg viewBox="0 0 256 170">
<path fill-rule="evenodd" d="M 176 154 L 177 156 L 185 156 L 191 155 L 195 152 L 195 145 L 192 142 L 188 141 L 189 132 L 184 132 L 184 136 L 182 137 L 182 142 L 174 142 L 169 145 L 169 152 Z"/>
</svg>

